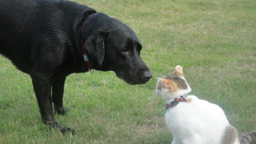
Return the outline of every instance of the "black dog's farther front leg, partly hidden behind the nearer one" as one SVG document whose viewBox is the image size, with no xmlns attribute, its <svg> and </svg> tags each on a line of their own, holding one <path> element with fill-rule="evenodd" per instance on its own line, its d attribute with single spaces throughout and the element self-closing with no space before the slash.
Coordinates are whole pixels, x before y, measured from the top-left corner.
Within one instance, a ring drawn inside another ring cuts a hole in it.
<svg viewBox="0 0 256 144">
<path fill-rule="evenodd" d="M 63 94 L 66 76 L 57 77 L 52 82 L 52 102 L 54 114 L 65 114 L 68 108 L 63 107 Z"/>
</svg>

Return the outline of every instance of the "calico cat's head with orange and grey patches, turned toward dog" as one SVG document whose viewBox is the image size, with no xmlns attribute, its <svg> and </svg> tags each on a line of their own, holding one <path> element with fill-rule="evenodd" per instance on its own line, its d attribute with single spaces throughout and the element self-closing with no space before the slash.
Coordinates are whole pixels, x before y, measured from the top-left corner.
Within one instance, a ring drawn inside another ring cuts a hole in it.
<svg viewBox="0 0 256 144">
<path fill-rule="evenodd" d="M 160 95 L 166 102 L 191 91 L 180 65 L 175 67 L 171 75 L 158 79 L 156 83 L 156 94 Z"/>
</svg>

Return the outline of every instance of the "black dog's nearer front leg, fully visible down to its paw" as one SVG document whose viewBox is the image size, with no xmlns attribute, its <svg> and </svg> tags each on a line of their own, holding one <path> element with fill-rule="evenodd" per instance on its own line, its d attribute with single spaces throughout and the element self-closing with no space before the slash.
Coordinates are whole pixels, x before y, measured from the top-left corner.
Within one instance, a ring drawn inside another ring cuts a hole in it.
<svg viewBox="0 0 256 144">
<path fill-rule="evenodd" d="M 59 129 L 62 133 L 67 131 L 74 133 L 74 130 L 71 128 L 66 128 L 60 125 L 54 116 L 51 97 L 52 79 L 50 76 L 47 77 L 45 73 L 42 74 L 32 70 L 30 77 L 32 79 L 36 99 L 41 112 L 41 118 L 44 124 L 48 125 L 50 128 Z"/>
</svg>

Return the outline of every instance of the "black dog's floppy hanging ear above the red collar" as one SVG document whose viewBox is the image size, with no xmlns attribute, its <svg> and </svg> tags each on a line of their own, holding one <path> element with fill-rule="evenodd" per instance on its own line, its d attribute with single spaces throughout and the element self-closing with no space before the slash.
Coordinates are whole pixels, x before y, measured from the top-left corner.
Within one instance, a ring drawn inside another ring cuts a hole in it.
<svg viewBox="0 0 256 144">
<path fill-rule="evenodd" d="M 107 33 L 99 32 L 97 35 L 90 36 L 84 43 L 86 52 L 88 52 L 98 67 L 101 67 L 104 60 L 107 36 Z"/>
</svg>

